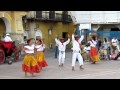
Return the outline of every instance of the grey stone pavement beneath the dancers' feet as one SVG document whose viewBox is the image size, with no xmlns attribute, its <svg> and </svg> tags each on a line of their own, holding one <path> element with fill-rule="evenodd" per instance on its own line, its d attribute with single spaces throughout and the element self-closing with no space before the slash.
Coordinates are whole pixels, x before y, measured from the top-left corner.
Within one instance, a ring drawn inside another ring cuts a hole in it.
<svg viewBox="0 0 120 90">
<path fill-rule="evenodd" d="M 58 67 L 58 61 L 54 58 L 54 51 L 46 51 L 46 61 L 49 66 L 43 68 L 41 73 L 35 74 L 36 77 L 24 76 L 21 70 L 22 58 L 12 65 L 0 65 L 0 79 L 120 79 L 120 60 L 101 61 L 97 64 L 84 62 L 84 70 L 79 70 L 79 64 L 76 62 L 75 71 L 71 69 L 70 51 L 66 52 L 66 61 L 64 67 Z"/>
</svg>

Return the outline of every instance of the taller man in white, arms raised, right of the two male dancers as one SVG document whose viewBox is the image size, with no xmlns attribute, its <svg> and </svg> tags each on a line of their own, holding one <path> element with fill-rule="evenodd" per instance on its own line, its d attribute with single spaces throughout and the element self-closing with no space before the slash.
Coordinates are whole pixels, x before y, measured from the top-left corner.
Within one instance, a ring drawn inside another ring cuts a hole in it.
<svg viewBox="0 0 120 90">
<path fill-rule="evenodd" d="M 83 66 L 83 57 L 81 56 L 81 41 L 84 39 L 84 35 L 79 38 L 77 35 L 72 35 L 73 42 L 73 56 L 72 56 L 72 70 L 74 71 L 76 59 L 79 61 L 80 69 L 84 69 Z"/>
</svg>

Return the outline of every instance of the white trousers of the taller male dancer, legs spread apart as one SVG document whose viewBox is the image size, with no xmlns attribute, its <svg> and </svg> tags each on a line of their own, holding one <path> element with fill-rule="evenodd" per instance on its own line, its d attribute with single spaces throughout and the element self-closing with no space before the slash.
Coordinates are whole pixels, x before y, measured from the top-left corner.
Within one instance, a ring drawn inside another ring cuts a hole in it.
<svg viewBox="0 0 120 90">
<path fill-rule="evenodd" d="M 83 57 L 81 56 L 81 54 L 80 54 L 80 53 L 74 53 L 74 52 L 73 52 L 73 56 L 72 56 L 72 67 L 75 67 L 76 59 L 78 59 L 80 66 L 83 65 Z"/>
</svg>

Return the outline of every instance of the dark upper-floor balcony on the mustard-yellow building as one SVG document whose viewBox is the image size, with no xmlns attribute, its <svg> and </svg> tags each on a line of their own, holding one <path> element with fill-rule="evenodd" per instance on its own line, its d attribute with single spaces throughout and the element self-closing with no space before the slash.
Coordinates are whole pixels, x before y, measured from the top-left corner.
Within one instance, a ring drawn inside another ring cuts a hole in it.
<svg viewBox="0 0 120 90">
<path fill-rule="evenodd" d="M 26 16 L 27 20 L 34 19 L 45 22 L 72 22 L 70 15 L 64 16 L 63 14 L 55 13 L 55 11 L 36 11 L 36 13 L 32 13 L 31 15 L 28 14 L 28 16 Z"/>
</svg>

